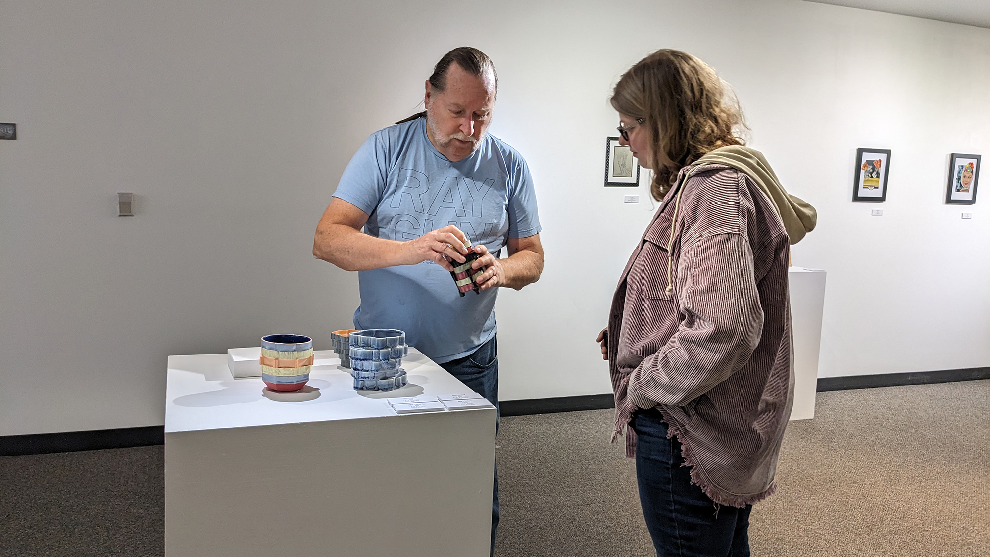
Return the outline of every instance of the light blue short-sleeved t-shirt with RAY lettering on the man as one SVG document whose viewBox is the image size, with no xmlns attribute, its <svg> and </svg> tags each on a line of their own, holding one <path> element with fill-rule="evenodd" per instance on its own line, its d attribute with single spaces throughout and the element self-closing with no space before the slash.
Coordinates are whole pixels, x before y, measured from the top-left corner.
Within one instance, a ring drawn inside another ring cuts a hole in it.
<svg viewBox="0 0 990 557">
<path fill-rule="evenodd" d="M 334 192 L 367 213 L 364 232 L 413 240 L 448 224 L 498 254 L 509 238 L 540 232 L 526 161 L 487 134 L 470 157 L 451 163 L 430 143 L 426 119 L 379 130 L 350 160 Z M 498 288 L 457 291 L 432 261 L 358 273 L 358 329 L 406 331 L 410 346 L 439 364 L 462 358 L 495 336 Z"/>
</svg>

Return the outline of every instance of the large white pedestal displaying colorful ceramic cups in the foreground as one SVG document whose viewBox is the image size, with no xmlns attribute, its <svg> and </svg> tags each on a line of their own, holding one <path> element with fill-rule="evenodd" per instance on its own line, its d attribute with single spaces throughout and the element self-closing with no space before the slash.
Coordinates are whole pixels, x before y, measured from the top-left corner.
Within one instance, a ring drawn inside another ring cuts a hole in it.
<svg viewBox="0 0 990 557">
<path fill-rule="evenodd" d="M 167 557 L 488 555 L 495 409 L 397 414 L 384 398 L 471 392 L 413 349 L 401 390 L 338 364 L 317 351 L 278 393 L 226 354 L 168 358 Z"/>
</svg>

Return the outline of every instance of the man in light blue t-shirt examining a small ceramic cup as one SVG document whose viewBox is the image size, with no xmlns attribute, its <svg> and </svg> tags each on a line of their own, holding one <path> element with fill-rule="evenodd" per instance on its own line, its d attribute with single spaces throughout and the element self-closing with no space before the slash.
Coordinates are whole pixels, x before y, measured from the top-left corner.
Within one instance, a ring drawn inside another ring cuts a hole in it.
<svg viewBox="0 0 990 557">
<path fill-rule="evenodd" d="M 497 286 L 517 290 L 544 268 L 533 179 L 523 157 L 486 135 L 498 92 L 488 56 L 454 49 L 426 82 L 426 111 L 361 145 L 317 226 L 313 255 L 358 271 L 354 326 L 406 331 L 426 354 L 498 408 Z M 361 232 L 361 229 L 364 232 Z M 464 241 L 485 268 L 480 293 L 450 276 Z M 508 257 L 499 259 L 502 248 Z M 498 526 L 498 475 L 492 548 Z"/>
</svg>

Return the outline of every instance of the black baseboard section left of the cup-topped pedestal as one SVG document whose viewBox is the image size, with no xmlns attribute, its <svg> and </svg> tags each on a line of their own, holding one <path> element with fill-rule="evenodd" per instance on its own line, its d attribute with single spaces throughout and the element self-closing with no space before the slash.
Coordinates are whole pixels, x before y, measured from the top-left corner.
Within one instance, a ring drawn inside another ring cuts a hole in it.
<svg viewBox="0 0 990 557">
<path fill-rule="evenodd" d="M 33 435 L 5 435 L 0 436 L 0 457 L 92 451 L 95 449 L 121 449 L 161 445 L 164 442 L 165 426 L 163 425 Z"/>
</svg>

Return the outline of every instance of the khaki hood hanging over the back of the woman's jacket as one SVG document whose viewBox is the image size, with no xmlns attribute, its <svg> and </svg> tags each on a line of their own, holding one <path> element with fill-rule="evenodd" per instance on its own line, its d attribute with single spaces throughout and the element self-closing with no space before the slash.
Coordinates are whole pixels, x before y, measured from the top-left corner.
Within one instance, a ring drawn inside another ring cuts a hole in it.
<svg viewBox="0 0 990 557">
<path fill-rule="evenodd" d="M 805 234 L 815 230 L 815 224 L 818 222 L 818 212 L 815 207 L 804 199 L 787 193 L 762 153 L 742 145 L 720 147 L 696 161 L 695 167 L 689 173 L 707 165 L 736 168 L 752 178 L 776 207 L 777 214 L 784 221 L 784 228 L 787 230 L 791 244 L 797 244 Z"/>
</svg>

